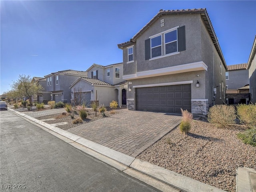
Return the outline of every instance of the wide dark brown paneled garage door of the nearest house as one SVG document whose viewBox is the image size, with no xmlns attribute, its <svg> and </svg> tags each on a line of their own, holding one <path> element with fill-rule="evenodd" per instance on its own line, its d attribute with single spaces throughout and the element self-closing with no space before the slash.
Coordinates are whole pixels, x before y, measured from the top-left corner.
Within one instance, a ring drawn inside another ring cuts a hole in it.
<svg viewBox="0 0 256 192">
<path fill-rule="evenodd" d="M 191 84 L 136 88 L 136 110 L 191 112 Z"/>
</svg>

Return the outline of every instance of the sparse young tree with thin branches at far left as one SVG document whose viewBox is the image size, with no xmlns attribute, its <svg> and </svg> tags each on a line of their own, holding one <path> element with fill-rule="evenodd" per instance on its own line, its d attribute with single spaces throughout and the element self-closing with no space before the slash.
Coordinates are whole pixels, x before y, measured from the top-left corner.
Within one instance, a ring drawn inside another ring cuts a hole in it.
<svg viewBox="0 0 256 192">
<path fill-rule="evenodd" d="M 24 96 L 28 98 L 30 106 L 32 106 L 31 97 L 44 89 L 40 84 L 38 85 L 36 82 L 32 82 L 30 75 L 26 76 L 23 74 L 19 75 L 18 80 L 14 81 L 11 87 L 20 97 Z"/>
</svg>

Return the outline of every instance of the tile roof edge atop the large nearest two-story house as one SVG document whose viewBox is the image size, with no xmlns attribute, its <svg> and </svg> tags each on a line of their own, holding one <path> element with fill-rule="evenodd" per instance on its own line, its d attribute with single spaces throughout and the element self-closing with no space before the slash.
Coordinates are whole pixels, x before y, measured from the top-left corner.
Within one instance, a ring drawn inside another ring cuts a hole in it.
<svg viewBox="0 0 256 192">
<path fill-rule="evenodd" d="M 215 31 L 212 26 L 212 22 L 210 21 L 210 17 L 208 15 L 208 12 L 206 11 L 206 8 L 199 8 L 199 9 L 181 9 L 181 10 L 160 10 L 139 32 L 137 32 L 132 39 L 128 42 L 124 42 L 121 44 L 118 44 L 118 48 L 122 48 L 124 45 L 131 44 L 132 42 L 136 41 L 136 38 L 140 36 L 155 20 L 157 20 L 160 16 L 165 14 L 191 14 L 191 13 L 200 13 L 201 17 L 204 21 L 204 24 L 208 30 L 208 33 L 210 34 L 210 37 L 212 39 L 212 42 L 214 43 L 214 46 L 220 56 L 220 59 L 222 63 L 224 64 L 225 68 L 227 69 L 226 61 L 224 59 L 224 56 L 222 54 L 222 50 L 220 49 L 220 45 L 218 42 L 218 38 L 215 34 Z"/>
</svg>

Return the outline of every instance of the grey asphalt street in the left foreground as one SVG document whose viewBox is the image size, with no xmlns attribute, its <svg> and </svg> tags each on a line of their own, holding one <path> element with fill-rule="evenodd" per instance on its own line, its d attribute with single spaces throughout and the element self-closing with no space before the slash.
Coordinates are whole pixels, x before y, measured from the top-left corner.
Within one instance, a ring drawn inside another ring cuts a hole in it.
<svg viewBox="0 0 256 192">
<path fill-rule="evenodd" d="M 0 191 L 151 192 L 144 182 L 0 111 Z"/>
</svg>

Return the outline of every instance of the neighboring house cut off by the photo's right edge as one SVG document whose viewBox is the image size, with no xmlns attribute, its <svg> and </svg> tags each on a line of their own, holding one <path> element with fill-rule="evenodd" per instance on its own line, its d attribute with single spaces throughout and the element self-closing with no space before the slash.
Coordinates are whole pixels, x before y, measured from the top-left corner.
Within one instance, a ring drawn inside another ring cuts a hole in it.
<svg viewBox="0 0 256 192">
<path fill-rule="evenodd" d="M 250 94 L 252 103 L 256 103 L 256 36 L 249 56 L 247 69 L 249 70 Z"/>
</svg>

